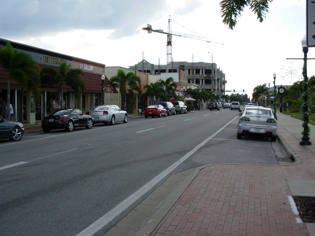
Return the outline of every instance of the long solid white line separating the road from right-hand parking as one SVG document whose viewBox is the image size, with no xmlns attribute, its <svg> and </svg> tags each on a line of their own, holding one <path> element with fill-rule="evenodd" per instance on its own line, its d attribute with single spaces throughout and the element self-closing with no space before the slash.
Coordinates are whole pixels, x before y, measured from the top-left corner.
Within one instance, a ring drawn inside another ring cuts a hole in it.
<svg viewBox="0 0 315 236">
<path fill-rule="evenodd" d="M 233 121 L 233 120 L 232 120 Z M 78 233 L 76 236 L 92 236 L 97 231 L 99 231 L 101 228 L 103 228 L 108 222 L 112 221 L 116 216 L 121 214 L 124 210 L 126 210 L 130 205 L 132 205 L 135 201 L 137 201 L 143 194 L 145 194 L 147 191 L 149 191 L 151 188 L 153 188 L 159 181 L 161 181 L 164 177 L 166 177 L 171 171 L 173 171 L 177 166 L 179 166 L 182 162 L 184 162 L 188 157 L 190 157 L 193 153 L 195 153 L 199 148 L 201 148 L 205 143 L 207 143 L 209 140 L 211 140 L 215 135 L 217 135 L 219 132 L 221 132 L 227 125 L 229 125 L 232 121 L 228 122 L 226 125 L 224 125 L 221 129 L 219 129 L 217 132 L 212 134 L 209 138 L 206 138 L 203 142 L 198 144 L 195 148 L 193 148 L 191 151 L 189 151 L 186 155 L 181 157 L 179 160 L 177 160 L 174 164 L 169 166 L 166 170 L 161 172 L 159 175 L 157 175 L 154 179 L 152 179 L 150 182 L 146 183 L 142 188 L 140 188 L 138 191 L 133 193 L 131 196 L 129 196 L 127 199 L 123 200 L 121 203 L 119 203 L 115 208 L 113 208 L 111 211 L 106 213 L 104 216 L 102 216 L 100 219 L 95 221 L 93 224 L 91 224 L 88 228 L 84 229 L 80 233 Z"/>
</svg>

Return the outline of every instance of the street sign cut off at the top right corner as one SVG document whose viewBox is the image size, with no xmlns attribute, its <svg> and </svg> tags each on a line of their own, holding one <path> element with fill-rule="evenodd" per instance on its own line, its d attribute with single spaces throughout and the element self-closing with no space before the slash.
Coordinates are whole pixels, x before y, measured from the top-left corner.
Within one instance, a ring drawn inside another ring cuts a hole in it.
<svg viewBox="0 0 315 236">
<path fill-rule="evenodd" d="M 315 47 L 315 1 L 306 0 L 306 44 Z"/>
</svg>

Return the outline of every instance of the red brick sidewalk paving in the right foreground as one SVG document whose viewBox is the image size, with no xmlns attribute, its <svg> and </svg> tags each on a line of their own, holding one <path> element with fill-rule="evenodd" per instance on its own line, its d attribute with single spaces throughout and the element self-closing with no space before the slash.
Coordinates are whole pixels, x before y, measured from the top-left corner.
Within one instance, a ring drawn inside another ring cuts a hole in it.
<svg viewBox="0 0 315 236">
<path fill-rule="evenodd" d="M 291 209 L 286 178 L 315 179 L 315 155 L 281 126 L 278 131 L 300 164 L 208 166 L 151 235 L 308 235 Z"/>
</svg>

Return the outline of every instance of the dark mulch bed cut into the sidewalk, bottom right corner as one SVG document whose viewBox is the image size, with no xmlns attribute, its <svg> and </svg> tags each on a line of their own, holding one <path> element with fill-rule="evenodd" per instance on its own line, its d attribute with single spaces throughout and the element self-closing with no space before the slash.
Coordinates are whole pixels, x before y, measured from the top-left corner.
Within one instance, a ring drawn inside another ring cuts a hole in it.
<svg viewBox="0 0 315 236">
<path fill-rule="evenodd" d="M 292 196 L 304 223 L 315 223 L 315 197 Z"/>
</svg>

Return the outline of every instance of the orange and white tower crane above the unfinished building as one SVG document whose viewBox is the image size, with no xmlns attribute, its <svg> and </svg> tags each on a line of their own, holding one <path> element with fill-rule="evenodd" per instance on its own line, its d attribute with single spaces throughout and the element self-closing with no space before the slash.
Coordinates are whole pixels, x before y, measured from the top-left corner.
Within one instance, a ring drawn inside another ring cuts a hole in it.
<svg viewBox="0 0 315 236">
<path fill-rule="evenodd" d="M 162 34 L 166 34 L 167 35 L 167 42 L 166 42 L 166 56 L 167 56 L 167 63 L 171 63 L 172 62 L 172 36 L 181 36 L 181 37 L 185 37 L 185 38 L 191 38 L 191 39 L 197 39 L 197 40 L 201 40 L 201 41 L 205 41 L 205 42 L 213 42 L 210 41 L 204 37 L 200 37 L 200 36 L 195 36 L 195 35 L 190 35 L 190 34 L 184 34 L 184 33 L 178 33 L 178 32 L 172 32 L 171 30 L 171 19 L 169 19 L 169 24 L 167 27 L 167 32 L 164 32 L 163 30 L 153 30 L 152 26 L 150 24 L 147 24 L 146 28 L 142 28 L 143 30 L 147 30 L 148 34 L 151 34 L 152 32 L 157 32 L 157 33 L 162 33 Z M 223 44 L 220 42 L 213 42 L 213 43 L 217 43 L 217 44 Z"/>
</svg>

